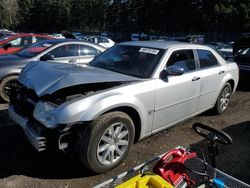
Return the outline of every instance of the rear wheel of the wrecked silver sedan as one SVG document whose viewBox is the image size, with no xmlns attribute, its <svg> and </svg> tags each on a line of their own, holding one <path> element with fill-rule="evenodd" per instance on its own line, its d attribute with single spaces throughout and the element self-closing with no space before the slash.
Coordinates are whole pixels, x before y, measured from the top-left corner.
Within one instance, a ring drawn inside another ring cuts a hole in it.
<svg viewBox="0 0 250 188">
<path fill-rule="evenodd" d="M 227 82 L 224 85 L 223 89 L 221 90 L 219 97 L 216 101 L 216 104 L 213 108 L 215 114 L 222 114 L 223 112 L 226 111 L 228 103 L 230 101 L 231 94 L 232 94 L 232 86 L 230 83 Z"/>
</svg>

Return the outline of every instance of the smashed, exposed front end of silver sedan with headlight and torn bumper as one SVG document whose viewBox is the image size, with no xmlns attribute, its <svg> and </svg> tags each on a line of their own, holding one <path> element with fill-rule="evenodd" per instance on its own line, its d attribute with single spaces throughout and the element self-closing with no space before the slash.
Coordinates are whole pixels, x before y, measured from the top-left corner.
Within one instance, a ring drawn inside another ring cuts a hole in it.
<svg viewBox="0 0 250 188">
<path fill-rule="evenodd" d="M 126 82 L 107 82 L 76 85 L 38 96 L 33 89 L 19 84 L 12 88 L 9 115 L 19 124 L 27 139 L 38 151 L 49 148 L 66 151 L 77 145 L 74 137 L 79 129 L 85 129 L 88 122 L 57 122 L 57 109 L 60 105 L 77 101 L 103 92 Z M 69 112 L 74 113 L 74 112 Z"/>
</svg>

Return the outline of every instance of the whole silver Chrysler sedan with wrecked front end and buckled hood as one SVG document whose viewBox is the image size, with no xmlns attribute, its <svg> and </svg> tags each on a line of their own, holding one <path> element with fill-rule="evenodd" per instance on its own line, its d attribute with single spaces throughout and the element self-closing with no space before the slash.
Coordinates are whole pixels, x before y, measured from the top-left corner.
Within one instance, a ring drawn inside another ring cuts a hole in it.
<svg viewBox="0 0 250 188">
<path fill-rule="evenodd" d="M 208 109 L 224 112 L 238 67 L 206 46 L 135 41 L 89 65 L 31 62 L 18 82 L 9 114 L 30 143 L 77 154 L 101 173 L 135 141 Z"/>
</svg>

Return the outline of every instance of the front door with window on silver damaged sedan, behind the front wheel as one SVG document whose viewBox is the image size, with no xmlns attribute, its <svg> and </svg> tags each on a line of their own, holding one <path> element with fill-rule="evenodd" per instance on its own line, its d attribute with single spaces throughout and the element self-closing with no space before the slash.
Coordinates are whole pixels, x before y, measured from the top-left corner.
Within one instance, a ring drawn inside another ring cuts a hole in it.
<svg viewBox="0 0 250 188">
<path fill-rule="evenodd" d="M 177 65 L 184 69 L 180 76 L 157 80 L 153 131 L 159 131 L 194 114 L 200 93 L 200 78 L 193 50 L 176 50 L 166 68 Z"/>
</svg>

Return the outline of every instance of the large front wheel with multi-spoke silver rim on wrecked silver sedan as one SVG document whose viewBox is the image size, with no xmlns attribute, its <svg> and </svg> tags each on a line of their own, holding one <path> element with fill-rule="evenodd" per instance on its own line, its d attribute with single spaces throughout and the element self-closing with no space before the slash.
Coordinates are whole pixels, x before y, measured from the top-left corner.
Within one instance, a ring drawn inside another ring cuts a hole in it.
<svg viewBox="0 0 250 188">
<path fill-rule="evenodd" d="M 106 172 L 127 156 L 134 136 L 133 121 L 126 113 L 106 113 L 92 121 L 81 136 L 80 160 L 95 173 Z"/>
</svg>

